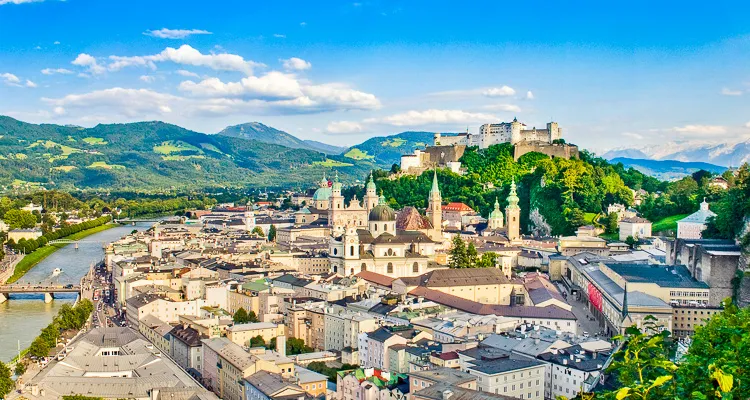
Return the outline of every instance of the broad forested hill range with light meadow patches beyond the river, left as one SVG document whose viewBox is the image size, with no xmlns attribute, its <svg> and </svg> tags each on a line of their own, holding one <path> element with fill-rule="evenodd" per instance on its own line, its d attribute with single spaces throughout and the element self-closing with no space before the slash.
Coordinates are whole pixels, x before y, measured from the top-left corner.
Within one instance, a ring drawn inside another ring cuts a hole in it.
<svg viewBox="0 0 750 400">
<path fill-rule="evenodd" d="M 333 167 L 349 180 L 374 168 L 368 160 L 343 160 L 163 122 L 81 128 L 0 116 L 0 186 L 6 188 L 305 187 Z"/>
</svg>

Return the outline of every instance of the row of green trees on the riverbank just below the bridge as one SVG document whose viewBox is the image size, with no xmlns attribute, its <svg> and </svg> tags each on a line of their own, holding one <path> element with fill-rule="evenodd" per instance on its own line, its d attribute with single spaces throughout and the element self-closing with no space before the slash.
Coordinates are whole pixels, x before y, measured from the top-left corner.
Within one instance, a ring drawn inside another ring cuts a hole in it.
<svg viewBox="0 0 750 400">
<path fill-rule="evenodd" d="M 94 304 L 88 299 L 79 301 L 75 306 L 64 304 L 52 323 L 31 342 L 28 354 L 37 358 L 47 357 L 50 349 L 57 346 L 61 332 L 83 328 L 92 311 Z"/>
</svg>

